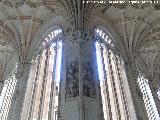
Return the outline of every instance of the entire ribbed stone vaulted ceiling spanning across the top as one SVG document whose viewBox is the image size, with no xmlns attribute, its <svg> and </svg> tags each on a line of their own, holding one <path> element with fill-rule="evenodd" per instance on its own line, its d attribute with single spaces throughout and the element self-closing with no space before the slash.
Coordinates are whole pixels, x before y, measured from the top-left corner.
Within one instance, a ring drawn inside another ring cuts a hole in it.
<svg viewBox="0 0 160 120">
<path fill-rule="evenodd" d="M 138 61 L 146 75 L 154 79 L 157 88 L 160 79 L 160 2 L 84 4 L 82 0 L 0 0 L 2 74 L 8 61 L 12 61 L 11 57 L 17 57 L 15 60 L 22 63 L 30 61 L 49 27 L 57 24 L 65 26 L 66 31 L 85 29 L 92 23 L 89 21 L 96 22 L 98 16 L 104 16 L 103 21 L 109 20 L 105 26 L 112 26 L 123 56 L 130 63 Z"/>
</svg>

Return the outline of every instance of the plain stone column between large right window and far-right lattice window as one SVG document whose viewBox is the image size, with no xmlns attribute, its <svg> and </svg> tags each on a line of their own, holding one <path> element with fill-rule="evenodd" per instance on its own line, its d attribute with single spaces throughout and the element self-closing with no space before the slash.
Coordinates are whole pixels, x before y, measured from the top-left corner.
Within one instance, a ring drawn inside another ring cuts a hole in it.
<svg viewBox="0 0 160 120">
<path fill-rule="evenodd" d="M 125 70 L 137 120 L 149 120 L 144 106 L 143 96 L 137 83 L 138 71 L 136 65 L 125 64 Z"/>
</svg>

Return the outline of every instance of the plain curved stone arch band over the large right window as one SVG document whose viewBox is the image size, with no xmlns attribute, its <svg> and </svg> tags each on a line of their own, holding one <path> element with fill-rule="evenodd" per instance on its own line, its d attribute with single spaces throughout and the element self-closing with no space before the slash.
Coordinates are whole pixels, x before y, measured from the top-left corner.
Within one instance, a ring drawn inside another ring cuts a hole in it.
<svg viewBox="0 0 160 120">
<path fill-rule="evenodd" d="M 87 29 L 94 30 L 97 26 L 103 26 L 114 38 L 115 44 L 121 57 L 123 57 L 124 62 L 128 62 L 127 53 L 125 51 L 125 44 L 122 40 L 122 36 L 118 33 L 116 26 L 112 22 L 111 18 L 109 18 L 106 14 L 102 14 L 100 11 L 95 12 L 89 19 L 89 25 Z"/>
</svg>

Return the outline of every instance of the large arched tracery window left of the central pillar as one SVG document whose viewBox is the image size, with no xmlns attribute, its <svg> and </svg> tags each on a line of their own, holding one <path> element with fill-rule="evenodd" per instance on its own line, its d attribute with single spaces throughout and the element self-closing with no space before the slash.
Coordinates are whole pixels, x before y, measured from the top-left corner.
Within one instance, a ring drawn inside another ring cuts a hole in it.
<svg viewBox="0 0 160 120">
<path fill-rule="evenodd" d="M 35 62 L 37 68 L 28 120 L 57 120 L 62 34 L 62 29 L 55 26 L 42 37 L 43 42 Z"/>
</svg>

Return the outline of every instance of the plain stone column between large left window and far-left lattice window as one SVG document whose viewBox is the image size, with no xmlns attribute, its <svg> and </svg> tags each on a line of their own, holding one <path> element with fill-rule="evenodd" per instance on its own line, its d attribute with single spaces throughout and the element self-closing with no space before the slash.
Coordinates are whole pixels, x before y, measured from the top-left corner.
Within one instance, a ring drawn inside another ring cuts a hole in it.
<svg viewBox="0 0 160 120">
<path fill-rule="evenodd" d="M 17 68 L 17 83 L 15 92 L 11 101 L 11 106 L 7 120 L 21 120 L 23 102 L 27 89 L 28 77 L 30 71 L 29 62 L 21 62 Z"/>
</svg>

